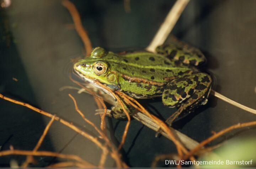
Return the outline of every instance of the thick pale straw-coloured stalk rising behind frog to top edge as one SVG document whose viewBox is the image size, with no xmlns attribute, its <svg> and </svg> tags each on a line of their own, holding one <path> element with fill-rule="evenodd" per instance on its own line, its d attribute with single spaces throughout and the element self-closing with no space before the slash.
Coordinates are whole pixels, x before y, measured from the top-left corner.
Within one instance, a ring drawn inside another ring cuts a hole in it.
<svg viewBox="0 0 256 169">
<path fill-rule="evenodd" d="M 165 21 L 158 29 L 158 32 L 146 50 L 155 52 L 155 48 L 165 42 L 165 39 L 170 34 L 172 28 L 175 26 L 178 18 L 180 17 L 188 2 L 189 0 L 177 0 L 175 2 L 174 6 L 166 16 Z"/>
</svg>

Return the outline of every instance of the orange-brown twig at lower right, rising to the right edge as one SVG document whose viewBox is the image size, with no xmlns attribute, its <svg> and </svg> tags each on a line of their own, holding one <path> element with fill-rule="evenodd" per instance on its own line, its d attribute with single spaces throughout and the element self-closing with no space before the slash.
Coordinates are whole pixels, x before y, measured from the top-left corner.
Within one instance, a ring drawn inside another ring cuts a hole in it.
<svg viewBox="0 0 256 169">
<path fill-rule="evenodd" d="M 211 136 L 211 137 L 207 138 L 206 140 L 202 141 L 201 143 L 199 143 L 199 145 L 197 145 L 193 150 L 191 150 L 189 153 L 187 153 L 182 159 L 189 158 L 194 153 L 196 153 L 200 148 L 202 148 L 203 146 L 205 146 L 209 142 L 215 140 L 219 136 L 222 136 L 223 134 L 225 134 L 227 132 L 230 132 L 231 130 L 239 129 L 239 128 L 242 128 L 242 127 L 254 126 L 254 125 L 256 125 L 256 121 L 239 123 L 239 124 L 230 126 L 230 127 L 226 128 L 226 129 L 223 129 L 223 130 L 219 131 L 218 133 L 214 134 L 213 136 Z"/>
</svg>

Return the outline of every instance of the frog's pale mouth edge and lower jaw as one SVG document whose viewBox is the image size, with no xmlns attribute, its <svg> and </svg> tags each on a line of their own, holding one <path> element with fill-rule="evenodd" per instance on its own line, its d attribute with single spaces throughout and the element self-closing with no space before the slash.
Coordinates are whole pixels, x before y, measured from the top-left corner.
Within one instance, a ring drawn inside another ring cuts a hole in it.
<svg viewBox="0 0 256 169">
<path fill-rule="evenodd" d="M 109 92 L 107 89 L 105 89 L 105 88 L 99 86 L 97 83 L 95 83 L 96 79 L 90 78 L 90 77 L 88 77 L 88 76 L 82 74 L 81 72 L 79 72 L 79 71 L 77 71 L 77 70 L 74 70 L 74 71 L 75 71 L 75 73 L 77 73 L 77 74 L 80 76 L 80 78 L 81 78 L 82 80 L 90 82 L 90 83 L 93 84 L 95 87 L 102 89 L 105 93 L 107 93 L 108 95 L 110 95 L 110 96 L 112 96 L 114 99 L 116 99 L 116 98 L 113 96 L 113 94 L 112 94 L 111 92 Z M 110 85 L 110 84 L 106 84 L 106 83 L 102 83 L 102 84 L 107 85 L 107 86 L 110 87 L 112 90 L 113 90 L 113 89 L 114 89 L 114 90 L 119 90 L 119 89 L 120 89 L 118 86 L 115 86 L 115 85 Z"/>
</svg>

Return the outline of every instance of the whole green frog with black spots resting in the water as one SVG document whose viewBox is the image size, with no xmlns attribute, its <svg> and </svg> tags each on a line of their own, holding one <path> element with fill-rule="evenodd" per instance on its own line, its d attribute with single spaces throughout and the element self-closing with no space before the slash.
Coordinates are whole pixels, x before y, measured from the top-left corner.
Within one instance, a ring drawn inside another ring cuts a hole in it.
<svg viewBox="0 0 256 169">
<path fill-rule="evenodd" d="M 207 103 L 212 78 L 198 69 L 198 65 L 206 60 L 199 49 L 165 44 L 158 46 L 155 51 L 114 53 L 96 47 L 89 57 L 74 64 L 74 71 L 82 80 L 89 81 L 98 88 L 102 87 L 95 81 L 134 99 L 161 97 L 165 106 L 177 108 L 165 121 L 171 126 L 178 117 L 182 118 L 199 105 Z M 129 115 L 138 111 L 123 98 L 120 97 L 119 100 L 121 101 L 116 101 L 116 105 L 107 111 L 108 116 L 127 118 L 121 104 Z"/>
</svg>

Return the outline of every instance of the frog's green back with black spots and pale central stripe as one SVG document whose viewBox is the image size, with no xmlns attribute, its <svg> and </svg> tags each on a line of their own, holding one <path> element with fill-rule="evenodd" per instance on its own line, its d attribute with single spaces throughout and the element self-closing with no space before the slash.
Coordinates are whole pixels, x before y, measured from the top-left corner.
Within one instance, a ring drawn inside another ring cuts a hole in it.
<svg viewBox="0 0 256 169">
<path fill-rule="evenodd" d="M 165 83 L 181 76 L 191 69 L 187 66 L 176 65 L 168 58 L 160 54 L 145 51 L 117 55 L 111 53 L 105 58 L 111 66 L 124 77 L 139 77 L 144 80 Z"/>
</svg>

